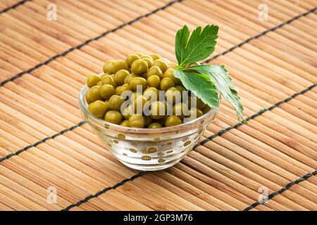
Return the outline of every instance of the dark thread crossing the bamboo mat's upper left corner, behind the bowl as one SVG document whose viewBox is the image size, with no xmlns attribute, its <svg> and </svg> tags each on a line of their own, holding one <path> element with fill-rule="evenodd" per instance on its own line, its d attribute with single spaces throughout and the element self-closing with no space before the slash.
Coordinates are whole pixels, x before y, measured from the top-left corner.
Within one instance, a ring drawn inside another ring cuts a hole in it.
<svg viewBox="0 0 317 225">
<path fill-rule="evenodd" d="M 98 39 L 101 39 L 101 37 L 105 37 L 107 34 L 110 34 L 110 33 L 113 33 L 113 32 L 116 32 L 117 30 L 120 30 L 122 29 L 123 27 L 125 26 L 128 26 L 128 25 L 132 25 L 133 23 L 141 20 L 142 18 L 147 18 L 149 15 L 153 15 L 154 13 L 157 13 L 158 11 L 162 11 L 166 8 L 168 8 L 169 6 L 172 6 L 173 4 L 177 3 L 177 2 L 181 2 L 181 1 L 184 1 L 184 0 L 175 0 L 175 1 L 170 1 L 168 4 L 166 4 L 165 6 L 162 6 L 160 8 L 156 8 L 154 11 L 151 11 L 145 15 L 140 15 L 139 17 L 135 18 L 134 20 L 131 20 L 129 21 L 128 23 L 123 23 L 122 25 L 116 27 L 116 28 L 113 28 L 112 30 L 108 30 L 102 34 L 100 34 L 99 36 L 97 37 L 94 37 L 92 39 L 87 39 L 87 41 L 83 42 L 82 44 L 79 44 L 75 47 L 71 47 L 70 49 L 66 50 L 66 51 L 63 51 L 62 53 L 58 53 L 57 55 L 55 56 L 52 56 L 51 58 L 45 60 L 44 62 L 42 63 L 39 63 L 37 65 L 35 65 L 34 67 L 28 69 L 28 70 L 25 70 L 25 71 L 22 71 L 22 72 L 19 72 L 17 75 L 14 75 L 13 77 L 9 78 L 9 79 L 5 79 L 3 82 L 0 83 L 0 86 L 4 86 L 4 84 L 8 83 L 8 82 L 13 82 L 13 80 L 15 79 L 18 79 L 19 77 L 22 77 L 23 75 L 27 74 L 27 73 L 30 73 L 34 70 L 37 70 L 38 68 L 42 67 L 43 65 L 47 65 L 49 63 L 51 63 L 52 61 L 56 60 L 57 58 L 61 58 L 63 56 L 66 56 L 68 55 L 68 53 L 71 53 L 75 50 L 78 50 L 78 49 L 81 49 L 83 46 L 86 46 L 87 44 L 89 44 L 90 42 L 92 41 L 97 41 Z"/>
</svg>

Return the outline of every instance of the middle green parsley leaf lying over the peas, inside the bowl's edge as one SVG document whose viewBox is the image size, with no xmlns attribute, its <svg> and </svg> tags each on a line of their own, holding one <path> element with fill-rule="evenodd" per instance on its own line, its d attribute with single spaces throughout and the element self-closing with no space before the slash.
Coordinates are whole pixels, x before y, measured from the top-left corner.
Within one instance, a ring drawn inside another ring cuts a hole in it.
<svg viewBox="0 0 317 225">
<path fill-rule="evenodd" d="M 182 85 L 187 90 L 192 91 L 204 103 L 212 108 L 219 107 L 219 96 L 215 86 L 211 83 L 211 79 L 199 73 L 185 72 L 183 70 L 175 70 L 175 77 L 181 79 Z"/>
</svg>

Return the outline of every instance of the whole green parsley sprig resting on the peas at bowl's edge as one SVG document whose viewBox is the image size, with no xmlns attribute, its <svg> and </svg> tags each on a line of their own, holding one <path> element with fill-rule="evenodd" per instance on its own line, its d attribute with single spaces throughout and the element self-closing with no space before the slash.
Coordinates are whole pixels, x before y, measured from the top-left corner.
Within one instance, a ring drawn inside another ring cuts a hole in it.
<svg viewBox="0 0 317 225">
<path fill-rule="evenodd" d="M 211 108 L 219 107 L 221 94 L 235 108 L 237 119 L 242 118 L 245 122 L 237 88 L 224 65 L 186 67 L 189 63 L 204 60 L 215 51 L 218 30 L 219 27 L 216 25 L 207 25 L 203 30 L 197 27 L 191 35 L 186 25 L 178 30 L 175 37 L 175 55 L 178 60 L 175 77 L 181 80 L 187 90 L 192 91 Z"/>
</svg>

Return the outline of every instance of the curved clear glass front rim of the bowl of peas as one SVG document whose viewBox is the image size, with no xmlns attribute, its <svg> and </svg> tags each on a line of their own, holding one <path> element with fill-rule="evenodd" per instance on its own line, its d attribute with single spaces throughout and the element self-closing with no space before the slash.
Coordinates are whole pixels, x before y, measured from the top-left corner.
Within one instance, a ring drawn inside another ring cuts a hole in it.
<svg viewBox="0 0 317 225">
<path fill-rule="evenodd" d="M 104 75 L 104 73 L 99 74 L 99 76 Z M 130 132 L 130 133 L 163 133 L 163 132 L 170 132 L 170 131 L 180 131 L 182 129 L 188 129 L 189 126 L 192 127 L 193 125 L 200 123 L 201 120 L 204 120 L 208 118 L 209 116 L 213 115 L 213 113 L 217 113 L 219 108 L 211 108 L 206 114 L 202 115 L 201 117 L 198 117 L 194 120 L 191 120 L 189 122 L 179 124 L 173 127 L 161 127 L 161 128 L 136 128 L 136 127 L 123 127 L 118 124 L 113 124 L 111 122 L 106 122 L 106 120 L 102 120 L 99 117 L 96 117 L 92 113 L 89 112 L 88 108 L 86 107 L 85 103 L 85 91 L 88 89 L 87 84 L 85 84 L 82 89 L 80 90 L 80 95 L 78 98 L 80 110 L 85 113 L 89 117 L 89 119 L 93 120 L 97 124 L 101 125 L 102 127 L 111 127 L 111 129 L 116 129 L 121 132 Z M 221 97 L 221 96 L 220 96 Z"/>
</svg>

